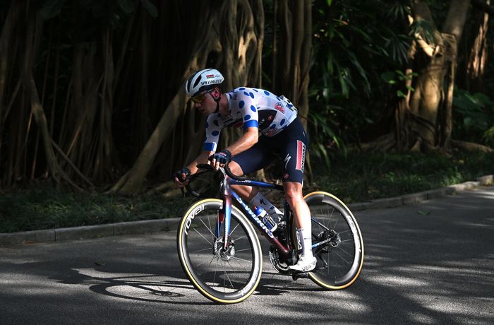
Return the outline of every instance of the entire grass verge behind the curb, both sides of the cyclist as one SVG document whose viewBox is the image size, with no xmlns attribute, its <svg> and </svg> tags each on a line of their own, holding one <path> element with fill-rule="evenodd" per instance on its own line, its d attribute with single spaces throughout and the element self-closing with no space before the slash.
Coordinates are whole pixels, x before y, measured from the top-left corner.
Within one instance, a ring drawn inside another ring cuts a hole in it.
<svg viewBox="0 0 494 325">
<path fill-rule="evenodd" d="M 330 169 L 313 164 L 316 184 L 346 203 L 437 189 L 493 173 L 494 153 L 352 153 L 335 155 Z M 179 217 L 193 198 L 72 193 L 38 185 L 0 196 L 0 232 Z"/>
</svg>

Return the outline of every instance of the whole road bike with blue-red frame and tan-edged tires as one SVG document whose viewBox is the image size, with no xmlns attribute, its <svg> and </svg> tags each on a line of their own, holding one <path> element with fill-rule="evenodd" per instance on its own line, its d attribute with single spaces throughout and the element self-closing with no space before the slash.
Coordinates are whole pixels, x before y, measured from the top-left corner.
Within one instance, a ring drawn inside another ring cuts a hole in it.
<svg viewBox="0 0 494 325">
<path fill-rule="evenodd" d="M 247 185 L 280 191 L 278 184 L 258 182 L 233 175 L 228 165 L 215 171 L 198 165 L 187 190 L 204 198 L 211 194 L 194 188 L 195 179 L 212 174 L 219 182 L 219 197 L 193 203 L 179 223 L 176 242 L 179 259 L 188 279 L 207 299 L 222 304 L 246 300 L 257 287 L 263 271 L 258 230 L 271 244 L 270 262 L 282 275 L 311 278 L 327 290 L 347 288 L 363 266 L 363 238 L 354 215 L 336 196 L 315 191 L 304 196 L 311 211 L 312 251 L 315 269 L 297 273 L 289 269 L 301 253 L 296 224 L 287 201 L 284 214 L 274 215 L 275 231 L 259 218 L 236 194 L 231 185 Z M 199 186 L 200 187 L 200 186 Z"/>
</svg>

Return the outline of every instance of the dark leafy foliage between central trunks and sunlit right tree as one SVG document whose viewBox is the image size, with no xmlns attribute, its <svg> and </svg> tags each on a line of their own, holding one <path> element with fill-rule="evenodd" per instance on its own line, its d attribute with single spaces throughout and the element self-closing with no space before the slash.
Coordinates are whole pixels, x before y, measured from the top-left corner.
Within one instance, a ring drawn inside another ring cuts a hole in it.
<svg viewBox="0 0 494 325">
<path fill-rule="evenodd" d="M 382 71 L 402 70 L 410 37 L 406 29 L 395 28 L 406 18 L 407 7 L 398 1 L 383 11 L 385 5 L 377 0 L 313 3 L 308 120 L 311 153 L 326 162 L 330 148 L 359 141 L 363 127 L 390 114 L 385 107 L 393 98 L 392 85 L 382 83 Z M 408 78 L 393 73 L 397 80 Z"/>
</svg>

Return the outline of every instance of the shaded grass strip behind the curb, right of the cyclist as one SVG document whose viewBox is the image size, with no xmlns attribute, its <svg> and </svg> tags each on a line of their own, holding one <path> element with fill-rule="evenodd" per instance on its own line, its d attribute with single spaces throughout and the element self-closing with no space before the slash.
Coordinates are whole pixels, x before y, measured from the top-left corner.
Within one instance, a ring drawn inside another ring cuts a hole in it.
<svg viewBox="0 0 494 325">
<path fill-rule="evenodd" d="M 317 165 L 317 164 L 313 164 Z M 493 174 L 494 153 L 353 153 L 315 170 L 316 188 L 347 203 L 437 189 Z"/>
</svg>

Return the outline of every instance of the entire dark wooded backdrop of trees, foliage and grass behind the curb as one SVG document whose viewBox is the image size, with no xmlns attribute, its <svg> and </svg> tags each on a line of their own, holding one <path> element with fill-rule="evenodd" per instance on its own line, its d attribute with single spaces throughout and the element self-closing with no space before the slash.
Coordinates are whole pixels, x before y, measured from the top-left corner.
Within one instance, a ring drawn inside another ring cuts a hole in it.
<svg viewBox="0 0 494 325">
<path fill-rule="evenodd" d="M 267 88 L 299 107 L 307 189 L 364 201 L 490 174 L 493 10 L 461 0 L 0 1 L 0 230 L 179 215 L 186 202 L 169 179 L 204 134 L 183 81 L 205 67 L 227 88 Z M 222 145 L 236 136 L 224 131 Z"/>
</svg>

